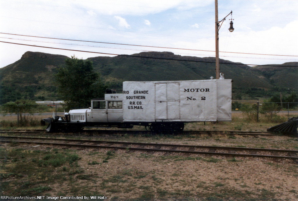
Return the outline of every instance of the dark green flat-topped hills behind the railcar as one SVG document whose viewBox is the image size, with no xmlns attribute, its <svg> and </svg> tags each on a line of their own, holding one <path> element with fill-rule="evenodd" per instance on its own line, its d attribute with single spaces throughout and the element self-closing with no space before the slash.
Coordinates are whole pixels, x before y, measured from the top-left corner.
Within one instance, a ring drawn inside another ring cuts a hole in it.
<svg viewBox="0 0 298 201">
<path fill-rule="evenodd" d="M 20 60 L 0 69 L 0 103 L 18 99 L 57 100 L 55 74 L 65 65 L 63 55 L 25 52 Z M 123 81 L 201 80 L 215 77 L 215 58 L 174 55 L 172 52 L 141 52 L 115 57 L 93 57 L 94 69 L 112 89 Z M 298 66 L 298 62 L 287 63 Z M 298 91 L 298 68 L 249 67 L 220 60 L 220 72 L 232 79 L 233 98 L 272 96 Z M 96 98 L 96 97 L 94 97 Z"/>
</svg>

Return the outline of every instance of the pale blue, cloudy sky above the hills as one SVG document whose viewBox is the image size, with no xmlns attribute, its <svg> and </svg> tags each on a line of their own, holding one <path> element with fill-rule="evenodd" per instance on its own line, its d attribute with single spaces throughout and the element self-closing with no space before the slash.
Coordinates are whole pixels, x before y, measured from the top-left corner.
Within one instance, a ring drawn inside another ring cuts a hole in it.
<svg viewBox="0 0 298 201">
<path fill-rule="evenodd" d="M 297 0 L 218 0 L 219 21 L 232 11 L 219 30 L 219 58 L 298 62 L 297 10 Z M 27 51 L 83 59 L 146 51 L 215 57 L 215 1 L 0 0 L 0 41 L 0 68 Z"/>
</svg>

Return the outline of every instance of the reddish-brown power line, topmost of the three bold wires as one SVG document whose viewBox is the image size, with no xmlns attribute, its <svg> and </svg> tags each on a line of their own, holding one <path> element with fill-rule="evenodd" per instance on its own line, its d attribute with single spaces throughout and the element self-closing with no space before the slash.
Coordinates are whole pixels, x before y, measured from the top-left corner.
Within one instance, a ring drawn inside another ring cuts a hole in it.
<svg viewBox="0 0 298 201">
<path fill-rule="evenodd" d="M 0 32 L 0 33 L 2 33 L 2 32 Z M 51 38 L 51 37 L 32 36 L 32 35 L 21 35 L 21 34 L 13 34 L 13 33 L 2 33 L 2 34 L 19 35 L 19 36 L 27 36 L 27 37 L 35 37 L 35 38 L 47 38 L 47 39 L 67 40 L 67 41 L 80 41 L 80 42 L 91 42 L 91 43 L 114 44 L 114 45 L 128 45 L 128 46 L 154 47 L 154 48 L 165 48 L 165 49 L 175 49 L 175 50 L 193 50 L 193 51 L 215 52 L 213 50 L 195 50 L 195 49 L 175 48 L 175 47 L 159 47 L 159 46 L 148 46 L 148 45 L 134 45 L 134 44 L 123 44 L 123 43 L 110 43 L 110 42 L 99 42 L 99 41 L 76 40 L 76 39 L 67 39 L 67 38 Z M 298 57 L 298 55 L 273 55 L 273 54 L 245 53 L 245 52 L 222 52 L 222 53 Z"/>
</svg>

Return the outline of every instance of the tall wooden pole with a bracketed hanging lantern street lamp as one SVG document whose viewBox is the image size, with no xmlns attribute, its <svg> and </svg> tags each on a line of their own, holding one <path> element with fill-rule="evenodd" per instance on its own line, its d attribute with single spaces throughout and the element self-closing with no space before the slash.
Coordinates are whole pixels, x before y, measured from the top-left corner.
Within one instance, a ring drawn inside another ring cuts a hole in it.
<svg viewBox="0 0 298 201">
<path fill-rule="evenodd" d="M 231 14 L 231 22 L 230 22 L 229 31 L 233 32 L 234 28 L 233 28 L 232 20 L 234 20 L 234 19 L 232 19 L 232 11 L 227 16 L 229 16 L 230 14 Z M 221 21 L 218 21 L 218 5 L 217 5 L 217 0 L 215 0 L 215 70 L 216 70 L 216 79 L 219 79 L 218 31 L 221 28 L 221 25 L 223 24 L 224 20 L 226 20 L 226 17 L 224 19 L 222 19 Z"/>
</svg>

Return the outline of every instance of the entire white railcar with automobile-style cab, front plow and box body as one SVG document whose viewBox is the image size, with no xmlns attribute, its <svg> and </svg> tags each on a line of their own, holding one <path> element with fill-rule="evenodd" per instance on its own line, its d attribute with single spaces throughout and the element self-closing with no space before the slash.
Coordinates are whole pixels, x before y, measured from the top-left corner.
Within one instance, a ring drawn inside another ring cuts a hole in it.
<svg viewBox="0 0 298 201">
<path fill-rule="evenodd" d="M 89 109 L 74 109 L 52 118 L 48 131 L 84 126 L 148 126 L 153 131 L 182 131 L 184 123 L 231 121 L 232 80 L 123 82 L 122 93 L 91 100 Z"/>
</svg>

